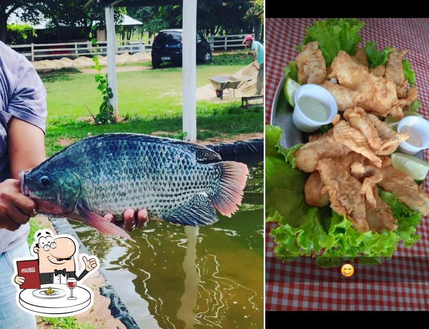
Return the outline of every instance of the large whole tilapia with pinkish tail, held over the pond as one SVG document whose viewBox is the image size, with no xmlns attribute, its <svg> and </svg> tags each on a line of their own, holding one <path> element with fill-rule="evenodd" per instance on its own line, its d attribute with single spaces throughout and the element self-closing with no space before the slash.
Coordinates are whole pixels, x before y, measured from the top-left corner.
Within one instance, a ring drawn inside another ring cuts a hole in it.
<svg viewBox="0 0 429 329">
<path fill-rule="evenodd" d="M 150 218 L 207 225 L 238 210 L 248 169 L 208 147 L 140 134 L 85 138 L 21 172 L 22 192 L 39 213 L 68 217 L 100 233 L 130 238 L 102 216 L 147 209 Z"/>
</svg>

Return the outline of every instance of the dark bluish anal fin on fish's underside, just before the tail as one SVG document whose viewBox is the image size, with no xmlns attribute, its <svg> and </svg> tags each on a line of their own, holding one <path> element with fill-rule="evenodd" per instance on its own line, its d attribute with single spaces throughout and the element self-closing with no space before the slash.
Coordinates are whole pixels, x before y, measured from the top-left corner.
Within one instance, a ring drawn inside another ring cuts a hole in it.
<svg viewBox="0 0 429 329">
<path fill-rule="evenodd" d="M 186 205 L 162 218 L 170 223 L 189 226 L 209 225 L 218 220 L 212 201 L 203 194 L 195 195 Z"/>
</svg>

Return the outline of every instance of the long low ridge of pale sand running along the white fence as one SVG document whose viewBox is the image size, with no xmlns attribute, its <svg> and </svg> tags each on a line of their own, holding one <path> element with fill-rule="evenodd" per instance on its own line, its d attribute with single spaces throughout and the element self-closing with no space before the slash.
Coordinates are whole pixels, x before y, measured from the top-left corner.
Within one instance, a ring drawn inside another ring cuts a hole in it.
<svg viewBox="0 0 429 329">
<path fill-rule="evenodd" d="M 107 65 L 107 57 L 97 55 L 98 63 L 102 66 Z M 135 62 L 143 62 L 150 61 L 152 58 L 150 57 L 150 53 L 136 53 L 133 55 L 130 54 L 120 54 L 116 55 L 116 63 L 117 64 L 125 64 L 125 63 L 135 63 Z M 63 67 L 75 67 L 75 68 L 83 68 L 90 67 L 94 65 L 91 57 L 81 56 L 75 59 L 70 59 L 63 57 L 61 59 L 54 60 L 42 60 L 31 62 L 33 67 L 36 70 L 47 71 L 47 70 L 55 70 Z"/>
</svg>

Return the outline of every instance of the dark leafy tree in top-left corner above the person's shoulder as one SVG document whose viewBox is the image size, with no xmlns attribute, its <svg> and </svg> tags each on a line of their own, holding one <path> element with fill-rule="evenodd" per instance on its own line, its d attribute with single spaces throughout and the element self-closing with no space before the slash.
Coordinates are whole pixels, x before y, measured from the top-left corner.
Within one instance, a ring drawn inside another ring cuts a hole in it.
<svg viewBox="0 0 429 329">
<path fill-rule="evenodd" d="M 18 9 L 21 10 L 18 11 Z M 6 41 L 7 21 L 12 13 L 18 15 L 24 21 L 38 23 L 40 20 L 40 2 L 27 0 L 2 0 L 0 1 L 0 40 Z"/>
</svg>

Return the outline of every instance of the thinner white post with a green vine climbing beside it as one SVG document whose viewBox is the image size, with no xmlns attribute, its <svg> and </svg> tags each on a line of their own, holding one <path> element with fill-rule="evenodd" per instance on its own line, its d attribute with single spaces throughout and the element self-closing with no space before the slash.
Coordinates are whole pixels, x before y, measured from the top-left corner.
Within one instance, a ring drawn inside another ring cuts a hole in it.
<svg viewBox="0 0 429 329">
<path fill-rule="evenodd" d="M 107 39 L 107 80 L 112 89 L 113 97 L 110 104 L 113 106 L 113 115 L 115 122 L 119 121 L 118 113 L 118 90 L 116 87 L 116 35 L 115 35 L 115 16 L 113 6 L 106 7 L 106 39 Z"/>
</svg>

